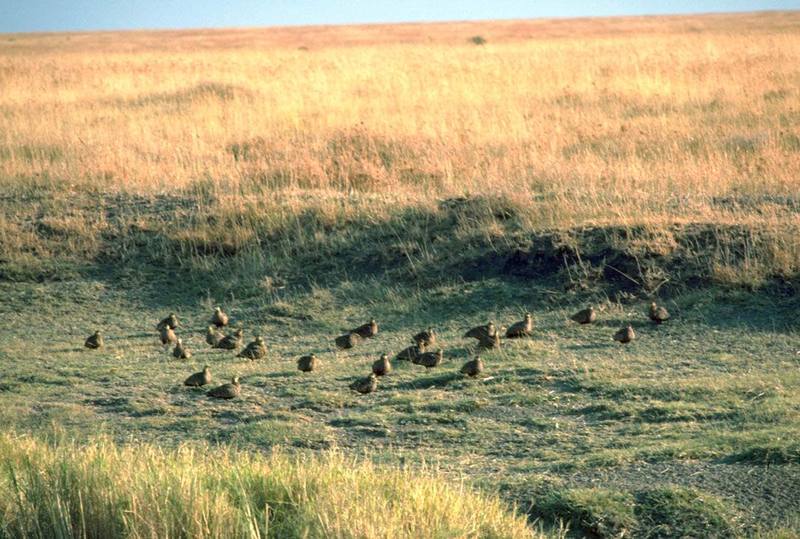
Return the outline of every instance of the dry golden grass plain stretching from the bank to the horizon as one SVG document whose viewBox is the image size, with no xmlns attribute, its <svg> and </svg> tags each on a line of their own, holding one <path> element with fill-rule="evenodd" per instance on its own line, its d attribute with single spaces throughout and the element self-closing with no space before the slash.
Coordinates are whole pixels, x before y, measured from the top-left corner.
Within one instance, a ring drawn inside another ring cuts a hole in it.
<svg viewBox="0 0 800 539">
<path fill-rule="evenodd" d="M 714 197 L 800 186 L 798 29 L 771 13 L 6 36 L 0 174 L 722 219 Z"/>
</svg>

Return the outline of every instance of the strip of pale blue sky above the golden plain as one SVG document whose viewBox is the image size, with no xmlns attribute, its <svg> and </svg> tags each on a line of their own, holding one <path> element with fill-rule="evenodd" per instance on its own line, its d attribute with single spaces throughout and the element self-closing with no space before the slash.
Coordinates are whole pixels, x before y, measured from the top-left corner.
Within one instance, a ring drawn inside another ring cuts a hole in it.
<svg viewBox="0 0 800 539">
<path fill-rule="evenodd" d="M 0 32 L 800 9 L 800 0 L 0 0 Z"/>
</svg>

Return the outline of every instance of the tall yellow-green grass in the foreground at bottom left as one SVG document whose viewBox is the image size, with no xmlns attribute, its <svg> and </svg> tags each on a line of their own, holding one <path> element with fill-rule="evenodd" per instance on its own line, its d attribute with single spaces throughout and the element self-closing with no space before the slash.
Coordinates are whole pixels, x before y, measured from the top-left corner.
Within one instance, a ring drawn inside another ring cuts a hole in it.
<svg viewBox="0 0 800 539">
<path fill-rule="evenodd" d="M 530 537 L 497 498 L 339 453 L 0 437 L 0 537 Z"/>
</svg>

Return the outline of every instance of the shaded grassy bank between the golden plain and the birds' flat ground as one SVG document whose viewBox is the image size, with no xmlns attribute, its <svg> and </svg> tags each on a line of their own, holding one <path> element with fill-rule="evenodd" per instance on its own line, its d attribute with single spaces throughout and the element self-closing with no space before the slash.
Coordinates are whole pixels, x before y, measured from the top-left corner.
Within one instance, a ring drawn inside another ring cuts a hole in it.
<svg viewBox="0 0 800 539">
<path fill-rule="evenodd" d="M 68 200 L 39 192 L 25 206 L 0 200 L 6 227 L 0 279 L 58 281 L 98 269 L 168 272 L 202 290 L 237 295 L 372 278 L 429 285 L 548 279 L 612 297 L 672 296 L 713 285 L 796 286 L 796 224 L 549 228 L 537 221 L 540 209 L 502 196 L 393 206 L 357 197 L 234 204 L 197 192 L 76 193 Z"/>
</svg>

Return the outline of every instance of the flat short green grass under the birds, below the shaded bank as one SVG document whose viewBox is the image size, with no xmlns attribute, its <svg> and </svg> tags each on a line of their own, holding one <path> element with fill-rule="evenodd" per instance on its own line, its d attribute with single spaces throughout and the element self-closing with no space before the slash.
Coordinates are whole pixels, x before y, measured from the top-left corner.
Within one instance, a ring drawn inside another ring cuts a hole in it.
<svg viewBox="0 0 800 539">
<path fill-rule="evenodd" d="M 507 503 L 526 508 L 532 522 L 553 530 L 560 522 L 573 533 L 798 530 L 796 491 L 773 493 L 772 505 L 753 504 L 762 496 L 764 465 L 790 477 L 800 470 L 794 296 L 686 290 L 665 302 L 673 319 L 654 326 L 644 299 L 554 293 L 555 281 L 491 278 L 415 288 L 372 277 L 212 297 L 191 280 L 118 275 L 0 284 L 4 429 L 44 433 L 56 426 L 77 439 L 99 432 L 119 443 L 336 449 L 392 467 L 434 464 L 501 492 Z M 568 321 L 588 303 L 601 309 L 596 324 Z M 265 337 L 266 359 L 208 349 L 203 330 L 217 304 L 247 339 Z M 461 337 L 466 328 L 487 320 L 507 325 L 526 310 L 535 315 L 532 338 L 482 354 L 487 370 L 478 379 L 458 374 L 474 354 Z M 157 342 L 155 325 L 170 311 L 181 319 L 178 333 L 194 354 L 189 361 L 173 359 Z M 334 349 L 334 336 L 373 316 L 381 324 L 377 337 L 352 351 Z M 627 323 L 638 339 L 621 346 L 611 334 Z M 445 349 L 441 367 L 395 362 L 377 393 L 347 389 L 381 353 L 399 351 L 429 325 Z M 83 349 L 95 328 L 104 330 L 106 347 Z M 295 360 L 309 352 L 321 357 L 322 368 L 300 373 Z M 203 390 L 183 387 L 204 364 L 215 383 L 241 376 L 242 398 L 212 401 Z M 745 491 L 732 492 L 723 479 L 697 490 L 680 473 L 650 489 L 630 479 L 600 488 L 581 481 L 598 470 L 686 463 L 735 467 L 737 478 L 753 474 L 752 491 L 745 481 Z M 681 509 L 689 503 L 699 516 Z M 668 507 L 644 509 L 654 504 Z M 756 512 L 764 507 L 768 514 Z"/>
</svg>

